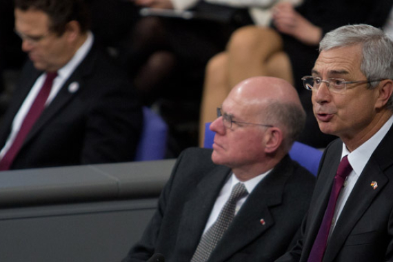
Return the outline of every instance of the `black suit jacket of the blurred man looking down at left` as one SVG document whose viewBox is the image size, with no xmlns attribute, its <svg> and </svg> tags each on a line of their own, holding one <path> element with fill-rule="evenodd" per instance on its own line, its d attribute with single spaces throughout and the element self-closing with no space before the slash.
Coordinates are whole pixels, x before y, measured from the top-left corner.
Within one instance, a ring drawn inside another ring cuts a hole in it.
<svg viewBox="0 0 393 262">
<path fill-rule="evenodd" d="M 31 61 L 24 66 L 0 125 L 0 148 L 41 73 Z M 70 91 L 72 85 L 79 89 Z M 130 161 L 141 125 L 132 85 L 93 45 L 30 130 L 11 169 Z"/>
</svg>

